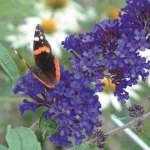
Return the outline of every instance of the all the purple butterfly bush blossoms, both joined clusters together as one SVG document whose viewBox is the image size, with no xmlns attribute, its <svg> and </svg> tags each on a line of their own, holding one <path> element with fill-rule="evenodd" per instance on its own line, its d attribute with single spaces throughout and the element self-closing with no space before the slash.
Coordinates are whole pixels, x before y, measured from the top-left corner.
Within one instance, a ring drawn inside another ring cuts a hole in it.
<svg viewBox="0 0 150 150">
<path fill-rule="evenodd" d="M 124 104 L 129 99 L 126 87 L 149 75 L 150 61 L 140 51 L 150 48 L 150 1 L 126 3 L 120 19 L 104 20 L 95 24 L 91 32 L 70 35 L 62 42 L 72 54 L 72 72 L 61 67 L 61 80 L 54 90 L 45 89 L 31 72 L 21 77 L 14 88 L 14 93 L 22 92 L 33 99 L 23 100 L 21 114 L 47 107 L 45 118 L 54 117 L 58 124 L 56 133 L 50 136 L 56 145 L 68 146 L 71 140 L 80 144 L 93 133 L 101 115 L 95 92 L 103 91 L 104 77 L 115 83 L 114 95 Z"/>
</svg>

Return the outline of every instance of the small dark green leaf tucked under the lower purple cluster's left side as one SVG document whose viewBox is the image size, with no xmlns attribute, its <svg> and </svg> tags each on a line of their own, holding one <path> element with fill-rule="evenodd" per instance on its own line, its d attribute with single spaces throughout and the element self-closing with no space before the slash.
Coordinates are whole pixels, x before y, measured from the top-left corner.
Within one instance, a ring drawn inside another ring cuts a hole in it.
<svg viewBox="0 0 150 150">
<path fill-rule="evenodd" d="M 57 130 L 57 123 L 55 122 L 54 118 L 50 118 L 50 120 L 45 119 L 45 112 L 41 115 L 39 120 L 39 130 L 43 133 L 43 139 L 45 135 L 50 136 L 51 134 L 55 133 Z"/>
</svg>

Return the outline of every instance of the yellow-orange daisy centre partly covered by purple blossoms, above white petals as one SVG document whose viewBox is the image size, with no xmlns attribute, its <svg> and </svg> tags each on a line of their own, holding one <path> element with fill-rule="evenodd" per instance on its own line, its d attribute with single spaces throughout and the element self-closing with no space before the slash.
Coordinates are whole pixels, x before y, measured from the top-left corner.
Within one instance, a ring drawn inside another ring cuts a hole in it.
<svg viewBox="0 0 150 150">
<path fill-rule="evenodd" d="M 103 83 L 105 83 L 105 86 L 103 87 L 104 92 L 106 93 L 112 93 L 115 91 L 116 85 L 112 83 L 111 79 L 104 78 L 101 80 Z"/>
</svg>

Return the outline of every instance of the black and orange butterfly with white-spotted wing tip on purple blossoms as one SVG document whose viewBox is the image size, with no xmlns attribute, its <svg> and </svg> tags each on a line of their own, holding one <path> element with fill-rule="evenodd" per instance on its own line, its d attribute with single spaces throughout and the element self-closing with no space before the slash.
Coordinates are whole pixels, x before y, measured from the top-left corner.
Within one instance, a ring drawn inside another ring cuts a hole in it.
<svg viewBox="0 0 150 150">
<path fill-rule="evenodd" d="M 41 83 L 47 88 L 54 88 L 54 85 L 60 80 L 59 62 L 52 54 L 51 46 L 46 40 L 44 30 L 40 25 L 37 25 L 35 29 L 33 50 L 36 64 L 33 67 L 30 67 L 16 50 L 15 53 Z"/>
</svg>

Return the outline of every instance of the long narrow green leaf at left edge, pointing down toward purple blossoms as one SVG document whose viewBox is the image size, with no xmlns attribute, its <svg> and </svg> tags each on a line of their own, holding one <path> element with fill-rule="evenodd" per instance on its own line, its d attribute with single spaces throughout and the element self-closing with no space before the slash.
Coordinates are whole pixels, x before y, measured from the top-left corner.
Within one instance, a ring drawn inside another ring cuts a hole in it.
<svg viewBox="0 0 150 150">
<path fill-rule="evenodd" d="M 19 73 L 16 67 L 15 62 L 12 57 L 9 55 L 7 50 L 0 44 L 0 65 L 9 75 L 13 82 L 16 82 L 19 79 Z"/>
</svg>

